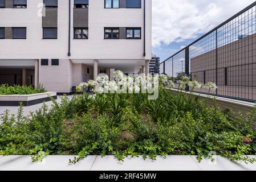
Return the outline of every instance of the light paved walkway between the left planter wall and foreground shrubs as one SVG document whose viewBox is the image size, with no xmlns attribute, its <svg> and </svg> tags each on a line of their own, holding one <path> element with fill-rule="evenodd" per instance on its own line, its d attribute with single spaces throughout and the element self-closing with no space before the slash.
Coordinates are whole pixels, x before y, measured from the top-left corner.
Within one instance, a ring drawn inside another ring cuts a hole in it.
<svg viewBox="0 0 256 182">
<path fill-rule="evenodd" d="M 60 102 L 62 97 L 63 96 L 58 96 L 56 101 Z M 67 97 L 68 97 L 68 99 L 71 100 L 73 96 L 67 96 Z M 40 107 L 42 107 L 42 105 L 43 105 L 43 103 L 32 105 L 32 106 L 23 107 L 23 114 L 25 116 L 29 115 L 30 111 L 38 110 Z M 51 106 L 52 105 L 52 101 L 46 102 L 46 105 L 47 106 Z M 0 106 L 0 115 L 4 114 L 6 110 L 9 110 L 10 114 L 17 114 L 18 109 L 19 109 L 18 106 Z"/>
</svg>

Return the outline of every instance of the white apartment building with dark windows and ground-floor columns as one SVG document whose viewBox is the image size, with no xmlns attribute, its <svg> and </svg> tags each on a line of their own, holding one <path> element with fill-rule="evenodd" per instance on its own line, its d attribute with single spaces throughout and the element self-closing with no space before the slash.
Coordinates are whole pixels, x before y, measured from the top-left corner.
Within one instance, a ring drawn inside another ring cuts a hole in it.
<svg viewBox="0 0 256 182">
<path fill-rule="evenodd" d="M 151 0 L 0 0 L 0 84 L 70 94 L 99 73 L 149 72 Z"/>
</svg>

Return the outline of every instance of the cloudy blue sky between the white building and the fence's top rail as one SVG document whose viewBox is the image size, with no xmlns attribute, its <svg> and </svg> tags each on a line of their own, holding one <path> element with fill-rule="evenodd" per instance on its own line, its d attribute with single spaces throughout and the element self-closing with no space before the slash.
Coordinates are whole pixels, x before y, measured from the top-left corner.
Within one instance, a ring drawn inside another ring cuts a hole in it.
<svg viewBox="0 0 256 182">
<path fill-rule="evenodd" d="M 152 53 L 161 61 L 253 0 L 152 0 Z"/>
</svg>

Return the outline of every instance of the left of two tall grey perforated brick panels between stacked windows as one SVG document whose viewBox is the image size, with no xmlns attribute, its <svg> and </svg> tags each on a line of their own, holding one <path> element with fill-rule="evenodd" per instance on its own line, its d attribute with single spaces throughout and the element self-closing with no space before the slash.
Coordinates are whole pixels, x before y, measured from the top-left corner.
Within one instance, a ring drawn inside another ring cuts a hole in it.
<svg viewBox="0 0 256 182">
<path fill-rule="evenodd" d="M 42 27 L 56 28 L 58 27 L 58 8 L 47 7 L 45 9 L 45 16 L 42 17 Z"/>
</svg>

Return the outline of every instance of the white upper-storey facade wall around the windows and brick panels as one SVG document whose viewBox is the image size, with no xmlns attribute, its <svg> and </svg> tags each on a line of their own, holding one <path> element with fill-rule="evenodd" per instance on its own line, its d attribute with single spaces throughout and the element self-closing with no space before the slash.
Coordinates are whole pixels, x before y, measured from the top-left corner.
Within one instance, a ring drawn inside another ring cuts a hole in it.
<svg viewBox="0 0 256 182">
<path fill-rule="evenodd" d="M 42 0 L 27 0 L 27 9 L 0 9 L 0 27 L 27 27 L 27 39 L 0 39 L 0 59 L 151 59 L 151 0 L 146 1 L 146 57 L 141 1 L 141 9 L 104 9 L 104 0 L 90 1 L 88 40 L 73 39 L 71 8 L 71 57 L 67 56 L 68 1 L 58 2 L 58 39 L 42 39 L 37 8 Z M 104 27 L 141 27 L 141 40 L 104 40 Z"/>
</svg>

